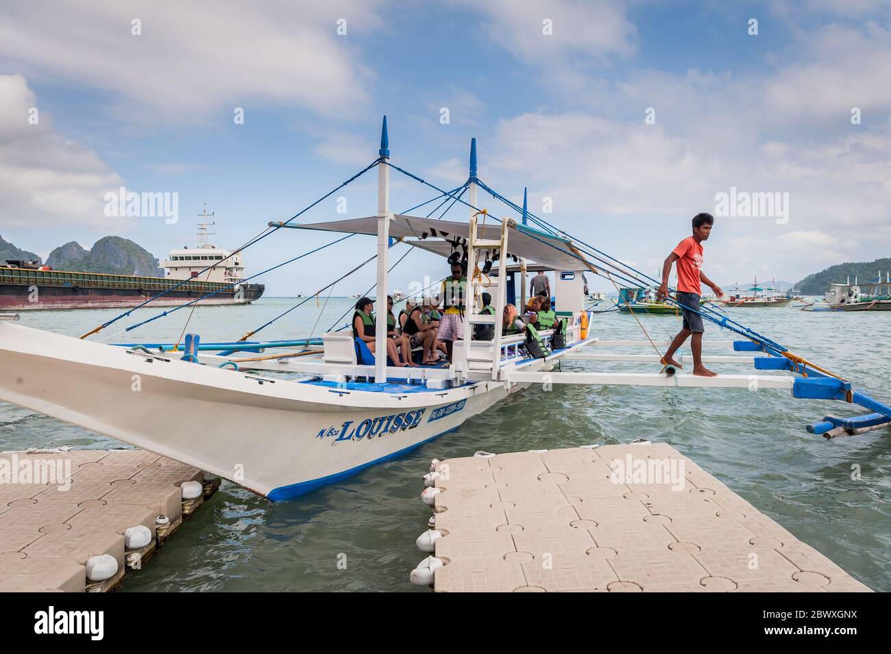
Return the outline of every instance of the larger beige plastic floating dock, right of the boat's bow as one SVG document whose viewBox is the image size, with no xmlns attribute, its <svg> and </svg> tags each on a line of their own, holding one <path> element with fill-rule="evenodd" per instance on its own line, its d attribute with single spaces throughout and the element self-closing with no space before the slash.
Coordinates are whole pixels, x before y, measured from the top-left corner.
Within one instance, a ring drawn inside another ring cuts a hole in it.
<svg viewBox="0 0 891 654">
<path fill-rule="evenodd" d="M 665 443 L 434 460 L 437 592 L 871 592 Z"/>
</svg>

